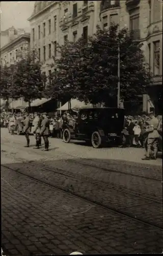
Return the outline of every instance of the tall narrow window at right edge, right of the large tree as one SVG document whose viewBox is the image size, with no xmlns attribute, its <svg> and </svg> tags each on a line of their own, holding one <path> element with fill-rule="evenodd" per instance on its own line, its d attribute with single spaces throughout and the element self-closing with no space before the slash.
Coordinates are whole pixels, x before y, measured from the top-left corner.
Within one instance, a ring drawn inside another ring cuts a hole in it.
<svg viewBox="0 0 163 256">
<path fill-rule="evenodd" d="M 153 56 L 153 74 L 155 76 L 160 75 L 160 49 L 159 49 L 159 41 L 153 42 L 153 50 L 154 50 L 154 56 Z"/>
</svg>

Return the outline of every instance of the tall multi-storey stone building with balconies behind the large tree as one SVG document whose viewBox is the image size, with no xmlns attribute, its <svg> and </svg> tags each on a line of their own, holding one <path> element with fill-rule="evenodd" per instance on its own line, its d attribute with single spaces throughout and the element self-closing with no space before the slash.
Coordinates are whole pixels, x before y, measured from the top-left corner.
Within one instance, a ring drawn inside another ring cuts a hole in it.
<svg viewBox="0 0 163 256">
<path fill-rule="evenodd" d="M 82 34 L 87 41 L 96 26 L 108 28 L 118 23 L 127 27 L 135 39 L 143 42 L 153 84 L 143 95 L 142 110 L 162 111 L 162 0 L 114 1 L 37 1 L 29 18 L 31 48 L 37 49 L 43 72 L 50 75 L 52 56 L 59 57 L 56 45 L 77 40 Z"/>
</svg>

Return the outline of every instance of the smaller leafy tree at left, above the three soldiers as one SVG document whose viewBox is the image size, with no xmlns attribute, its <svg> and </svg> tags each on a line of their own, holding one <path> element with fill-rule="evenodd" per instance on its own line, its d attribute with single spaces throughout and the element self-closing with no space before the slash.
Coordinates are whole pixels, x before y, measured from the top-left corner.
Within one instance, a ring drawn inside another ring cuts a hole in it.
<svg viewBox="0 0 163 256">
<path fill-rule="evenodd" d="M 46 77 L 41 73 L 41 63 L 33 53 L 29 53 L 15 67 L 14 97 L 22 97 L 30 106 L 32 100 L 44 96 Z"/>
</svg>

